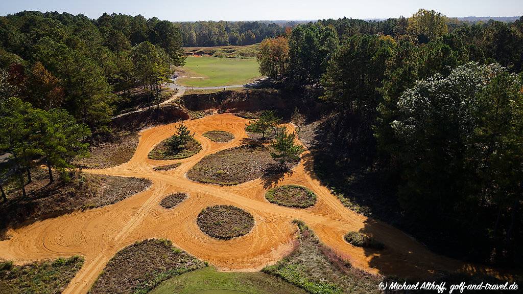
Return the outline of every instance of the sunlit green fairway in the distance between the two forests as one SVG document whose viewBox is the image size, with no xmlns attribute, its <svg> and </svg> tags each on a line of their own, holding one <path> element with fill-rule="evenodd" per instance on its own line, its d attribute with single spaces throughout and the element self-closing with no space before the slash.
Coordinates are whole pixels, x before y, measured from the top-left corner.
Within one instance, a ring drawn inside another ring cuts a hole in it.
<svg viewBox="0 0 523 294">
<path fill-rule="evenodd" d="M 188 56 L 176 83 L 189 87 L 244 85 L 260 77 L 255 58 Z"/>
</svg>

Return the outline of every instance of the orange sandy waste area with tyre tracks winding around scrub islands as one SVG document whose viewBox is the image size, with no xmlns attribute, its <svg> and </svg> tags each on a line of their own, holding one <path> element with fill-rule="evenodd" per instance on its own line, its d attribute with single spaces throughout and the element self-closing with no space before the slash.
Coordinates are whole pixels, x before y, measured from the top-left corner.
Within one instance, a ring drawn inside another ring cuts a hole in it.
<svg viewBox="0 0 523 294">
<path fill-rule="evenodd" d="M 58 218 L 39 221 L 10 230 L 9 240 L 0 241 L 0 258 L 24 263 L 59 256 L 83 255 L 85 264 L 64 293 L 86 293 L 109 259 L 123 247 L 147 238 L 166 238 L 188 253 L 221 270 L 255 271 L 274 264 L 292 248 L 295 228 L 293 219 L 301 219 L 320 240 L 348 259 L 353 265 L 373 273 L 425 277 L 433 270 L 456 270 L 470 265 L 436 255 L 402 231 L 388 224 L 361 216 L 342 205 L 321 185 L 312 172 L 312 156 L 302 154 L 301 163 L 291 174 L 277 180 L 277 185 L 297 184 L 317 195 L 317 203 L 306 209 L 282 207 L 264 197 L 270 188 L 267 179 L 256 179 L 231 187 L 200 184 L 185 174 L 203 156 L 241 144 L 246 138 L 246 119 L 229 114 L 212 115 L 186 121 L 196 133 L 202 150 L 187 159 L 155 161 L 147 158 L 152 148 L 174 133 L 177 123 L 141 132 L 140 143 L 132 159 L 105 169 L 84 169 L 96 174 L 143 177 L 153 185 L 115 205 Z M 288 126 L 293 129 L 292 125 Z M 235 135 L 227 143 L 214 143 L 202 133 L 223 130 Z M 181 165 L 170 171 L 157 172 L 153 167 L 175 162 Z M 271 182 L 272 185 L 275 182 Z M 160 206 L 166 195 L 184 192 L 189 195 L 174 209 Z M 234 205 L 250 212 L 255 225 L 252 231 L 232 240 L 213 239 L 196 224 L 198 213 L 211 205 Z M 343 240 L 347 231 L 364 229 L 385 244 L 377 252 L 354 247 Z"/>
</svg>

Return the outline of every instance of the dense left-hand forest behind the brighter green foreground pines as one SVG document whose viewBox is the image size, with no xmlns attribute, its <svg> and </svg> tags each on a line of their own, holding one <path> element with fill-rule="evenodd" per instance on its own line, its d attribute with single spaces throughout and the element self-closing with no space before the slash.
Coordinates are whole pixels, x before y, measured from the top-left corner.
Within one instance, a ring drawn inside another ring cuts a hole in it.
<svg viewBox="0 0 523 294">
<path fill-rule="evenodd" d="M 21 12 L 0 17 L 0 68 L 16 97 L 33 107 L 63 108 L 104 135 L 131 89 L 159 96 L 170 66 L 183 65 L 181 34 L 170 21 L 104 14 Z"/>
</svg>

